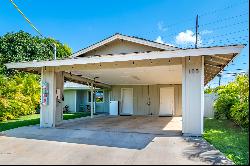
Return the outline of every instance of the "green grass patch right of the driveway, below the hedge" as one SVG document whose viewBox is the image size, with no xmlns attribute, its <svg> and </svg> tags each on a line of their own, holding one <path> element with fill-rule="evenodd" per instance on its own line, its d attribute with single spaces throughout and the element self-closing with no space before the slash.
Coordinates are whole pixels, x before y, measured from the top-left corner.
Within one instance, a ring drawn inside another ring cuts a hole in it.
<svg viewBox="0 0 250 166">
<path fill-rule="evenodd" d="M 203 137 L 237 165 L 249 163 L 249 132 L 230 120 L 205 119 Z"/>
</svg>

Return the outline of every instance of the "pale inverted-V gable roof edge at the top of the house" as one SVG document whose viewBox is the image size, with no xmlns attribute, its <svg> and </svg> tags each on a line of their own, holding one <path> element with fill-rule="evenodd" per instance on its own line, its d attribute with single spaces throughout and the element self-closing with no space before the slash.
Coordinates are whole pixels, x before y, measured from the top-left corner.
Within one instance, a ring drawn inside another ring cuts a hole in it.
<svg viewBox="0 0 250 166">
<path fill-rule="evenodd" d="M 120 34 L 120 33 L 116 33 L 114 34 L 113 36 L 110 36 L 104 40 L 101 40 L 93 45 L 90 45 L 80 51 L 77 51 L 75 52 L 72 57 L 78 57 L 78 56 L 81 56 L 83 54 L 86 54 L 90 51 L 93 51 L 97 48 L 100 48 L 104 45 L 107 45 L 108 43 L 111 43 L 115 40 L 124 40 L 124 41 L 128 41 L 128 42 L 132 42 L 132 43 L 135 43 L 135 44 L 141 44 L 141 45 L 145 45 L 145 46 L 149 46 L 149 47 L 152 47 L 152 48 L 157 48 L 157 49 L 160 49 L 162 51 L 173 51 L 173 50 L 178 50 L 180 48 L 178 47 L 174 47 L 174 46 L 171 46 L 171 45 L 167 45 L 167 44 L 163 44 L 163 43 L 158 43 L 158 42 L 155 42 L 155 41 L 151 41 L 151 40 L 147 40 L 147 39 L 143 39 L 143 38 L 139 38 L 139 37 L 135 37 L 135 36 L 127 36 L 127 35 L 123 35 L 123 34 Z"/>
</svg>

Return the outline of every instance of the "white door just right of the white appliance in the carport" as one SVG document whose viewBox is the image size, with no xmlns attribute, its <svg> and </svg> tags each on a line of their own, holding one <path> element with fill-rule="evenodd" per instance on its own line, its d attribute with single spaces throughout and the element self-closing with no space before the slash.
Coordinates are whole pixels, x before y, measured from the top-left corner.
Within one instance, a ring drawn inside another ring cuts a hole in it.
<svg viewBox="0 0 250 166">
<path fill-rule="evenodd" d="M 133 88 L 121 89 L 121 114 L 133 114 Z"/>
</svg>

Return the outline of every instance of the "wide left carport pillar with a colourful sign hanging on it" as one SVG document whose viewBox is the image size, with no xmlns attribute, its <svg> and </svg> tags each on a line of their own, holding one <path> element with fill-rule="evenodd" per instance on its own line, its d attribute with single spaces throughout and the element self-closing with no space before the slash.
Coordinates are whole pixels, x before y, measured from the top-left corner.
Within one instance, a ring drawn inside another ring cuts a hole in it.
<svg viewBox="0 0 250 166">
<path fill-rule="evenodd" d="M 53 67 L 42 68 L 42 82 L 49 84 L 49 103 L 41 104 L 40 110 L 40 127 L 55 127 L 63 120 L 62 117 L 62 101 L 56 98 L 56 89 L 63 88 L 62 72 L 55 72 Z M 61 94 L 62 94 L 61 90 Z"/>
</svg>

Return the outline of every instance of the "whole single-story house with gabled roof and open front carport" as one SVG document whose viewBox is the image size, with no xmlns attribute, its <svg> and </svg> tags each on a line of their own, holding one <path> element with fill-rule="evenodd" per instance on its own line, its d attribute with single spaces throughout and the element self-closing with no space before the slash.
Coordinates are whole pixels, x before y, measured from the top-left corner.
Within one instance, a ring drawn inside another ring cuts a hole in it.
<svg viewBox="0 0 250 166">
<path fill-rule="evenodd" d="M 8 63 L 6 66 L 41 74 L 41 127 L 62 123 L 64 81 L 71 81 L 90 86 L 91 117 L 96 87 L 107 92 L 108 102 L 119 101 L 120 115 L 182 116 L 182 133 L 201 135 L 204 86 L 244 46 L 181 49 L 115 34 L 79 50 L 68 59 Z"/>
</svg>

